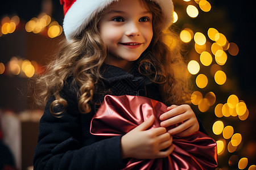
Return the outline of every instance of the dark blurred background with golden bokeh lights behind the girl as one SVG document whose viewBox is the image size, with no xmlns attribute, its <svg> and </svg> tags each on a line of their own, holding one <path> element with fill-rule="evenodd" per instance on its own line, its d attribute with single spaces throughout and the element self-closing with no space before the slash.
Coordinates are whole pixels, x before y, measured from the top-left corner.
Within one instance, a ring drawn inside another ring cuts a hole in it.
<svg viewBox="0 0 256 170">
<path fill-rule="evenodd" d="M 172 28 L 184 42 L 192 108 L 217 142 L 216 170 L 256 169 L 256 3 L 173 1 Z M 43 111 L 31 105 L 30 82 L 64 39 L 62 23 L 57 0 L 1 1 L 0 169 L 32 169 Z"/>
</svg>

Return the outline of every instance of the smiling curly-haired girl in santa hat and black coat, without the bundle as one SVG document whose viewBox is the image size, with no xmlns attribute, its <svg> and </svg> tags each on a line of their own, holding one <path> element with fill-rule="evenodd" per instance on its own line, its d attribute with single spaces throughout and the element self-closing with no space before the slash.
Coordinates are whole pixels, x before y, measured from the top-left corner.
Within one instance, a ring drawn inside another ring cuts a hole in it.
<svg viewBox="0 0 256 170">
<path fill-rule="evenodd" d="M 35 169 L 122 169 L 126 158 L 170 155 L 172 135 L 205 132 L 184 104 L 190 98 L 184 62 L 177 37 L 167 29 L 171 0 L 61 3 L 67 40 L 36 84 L 36 100 L 46 107 Z M 151 117 L 125 135 L 98 137 L 90 134 L 90 121 L 105 95 L 145 96 L 170 107 L 160 116 L 160 128 L 147 130 Z"/>
</svg>

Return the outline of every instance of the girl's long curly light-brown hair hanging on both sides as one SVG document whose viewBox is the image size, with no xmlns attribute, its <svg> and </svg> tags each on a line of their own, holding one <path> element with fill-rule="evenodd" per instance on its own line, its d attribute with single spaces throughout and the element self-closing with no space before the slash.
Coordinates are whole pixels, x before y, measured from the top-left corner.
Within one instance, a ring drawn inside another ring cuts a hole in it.
<svg viewBox="0 0 256 170">
<path fill-rule="evenodd" d="M 148 50 L 154 57 L 139 60 L 139 65 L 148 72 L 151 71 L 148 69 L 151 65 L 155 67 L 158 79 L 153 81 L 160 84 L 160 92 L 166 104 L 187 103 L 190 94 L 179 37 L 171 29 L 163 29 L 164 14 L 155 2 L 141 1 L 152 12 L 153 37 Z M 50 105 L 50 112 L 54 116 L 62 113 L 54 112 L 58 105 L 64 110 L 67 108 L 67 101 L 61 97 L 60 91 L 69 77 L 80 87 L 77 92 L 79 111 L 88 113 L 91 110 L 88 102 L 92 100 L 96 84 L 102 78 L 100 67 L 108 55 L 108 47 L 98 29 L 104 11 L 96 15 L 79 36 L 61 42 L 55 59 L 46 68 L 46 74 L 36 80 L 34 99 L 44 107 L 52 95 L 55 100 Z"/>
</svg>

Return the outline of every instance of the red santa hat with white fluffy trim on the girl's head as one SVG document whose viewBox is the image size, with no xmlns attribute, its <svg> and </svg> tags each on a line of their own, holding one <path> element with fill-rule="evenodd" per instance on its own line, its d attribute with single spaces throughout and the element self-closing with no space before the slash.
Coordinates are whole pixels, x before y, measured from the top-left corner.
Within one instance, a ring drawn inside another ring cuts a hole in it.
<svg viewBox="0 0 256 170">
<path fill-rule="evenodd" d="M 60 0 L 64 10 L 63 30 L 67 40 L 79 35 L 98 12 L 118 0 Z M 149 0 L 148 0 L 149 1 Z M 165 16 L 165 28 L 173 22 L 172 0 L 150 0 L 156 2 Z"/>
</svg>

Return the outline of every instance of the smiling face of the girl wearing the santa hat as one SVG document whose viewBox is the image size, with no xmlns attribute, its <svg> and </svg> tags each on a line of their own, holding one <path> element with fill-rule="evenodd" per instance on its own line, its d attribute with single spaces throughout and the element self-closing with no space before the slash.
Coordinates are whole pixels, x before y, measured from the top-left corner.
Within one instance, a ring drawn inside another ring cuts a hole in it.
<svg viewBox="0 0 256 170">
<path fill-rule="evenodd" d="M 129 69 L 151 42 L 152 14 L 139 0 L 112 3 L 100 20 L 100 35 L 109 49 L 106 63 Z"/>
</svg>

